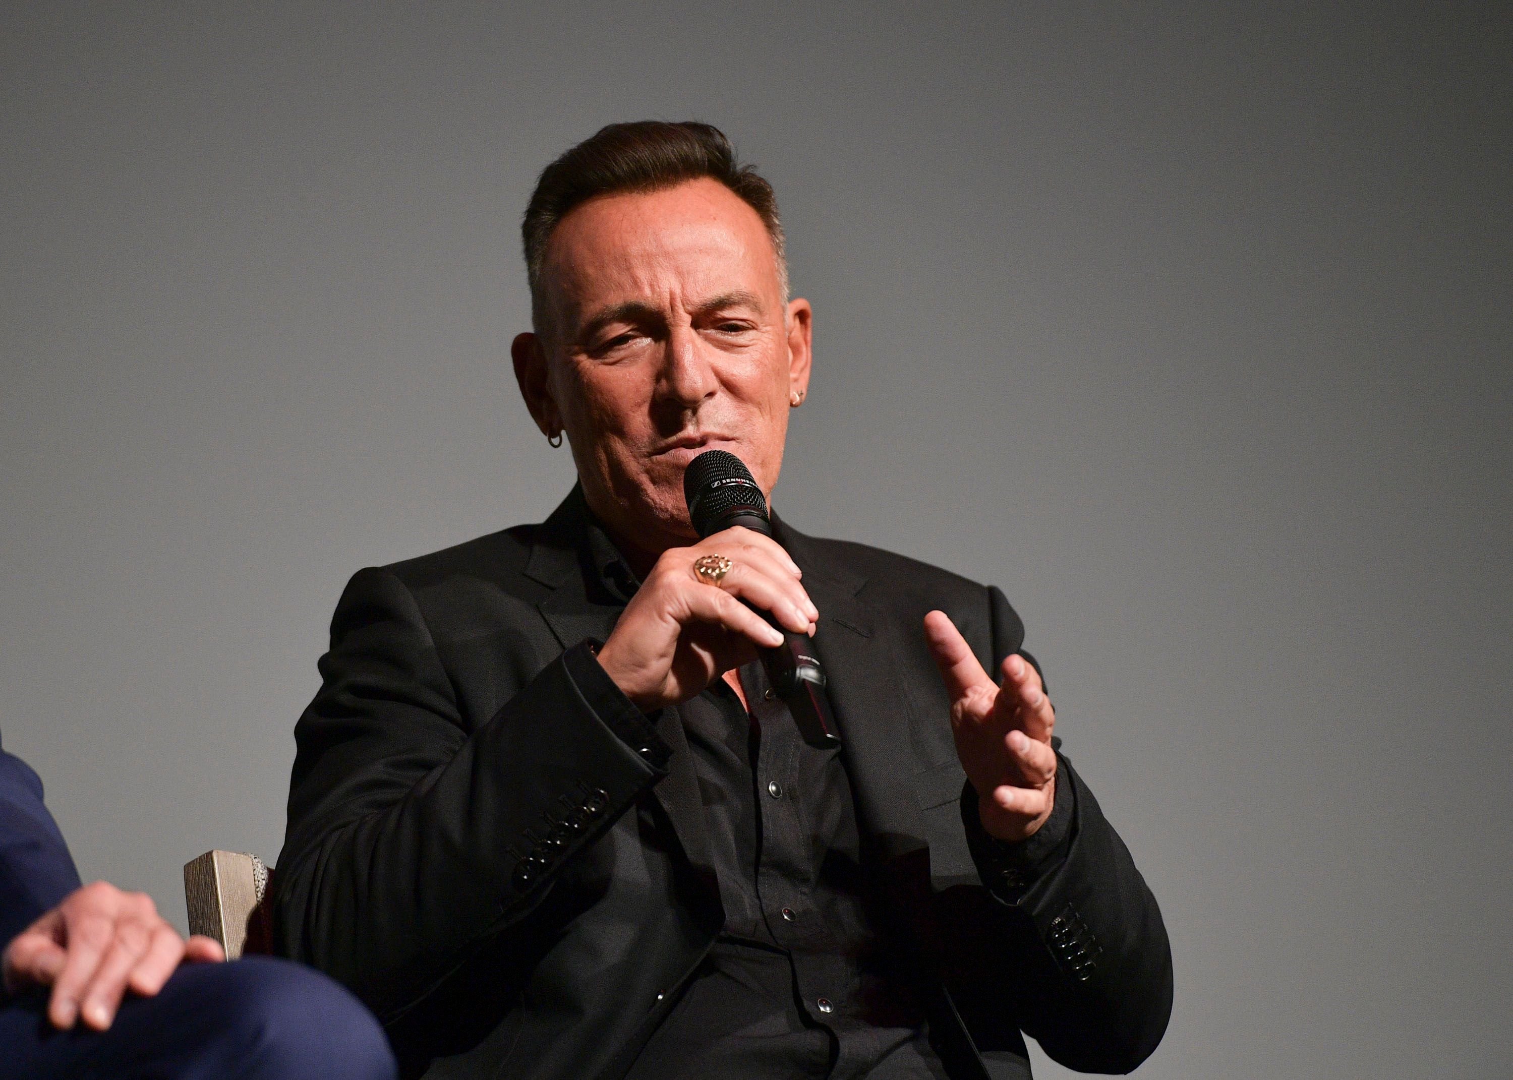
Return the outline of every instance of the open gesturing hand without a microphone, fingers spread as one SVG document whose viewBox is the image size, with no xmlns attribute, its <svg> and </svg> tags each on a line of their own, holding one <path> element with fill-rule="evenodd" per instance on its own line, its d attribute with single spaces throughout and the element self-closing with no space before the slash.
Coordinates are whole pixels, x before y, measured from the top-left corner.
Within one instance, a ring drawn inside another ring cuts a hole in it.
<svg viewBox="0 0 1513 1080">
<path fill-rule="evenodd" d="M 1033 836 L 1056 803 L 1056 711 L 1039 673 L 1011 655 L 994 682 L 943 611 L 924 616 L 924 637 L 950 694 L 956 756 L 977 791 L 982 827 L 999 839 Z"/>
</svg>

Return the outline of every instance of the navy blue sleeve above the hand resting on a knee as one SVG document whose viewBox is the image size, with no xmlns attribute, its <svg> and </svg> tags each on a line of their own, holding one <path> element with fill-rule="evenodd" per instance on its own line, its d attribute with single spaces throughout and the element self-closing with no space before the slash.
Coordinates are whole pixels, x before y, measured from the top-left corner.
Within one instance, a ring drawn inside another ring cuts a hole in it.
<svg viewBox="0 0 1513 1080">
<path fill-rule="evenodd" d="M 79 888 L 79 871 L 42 803 L 42 782 L 0 750 L 0 950 Z"/>
</svg>

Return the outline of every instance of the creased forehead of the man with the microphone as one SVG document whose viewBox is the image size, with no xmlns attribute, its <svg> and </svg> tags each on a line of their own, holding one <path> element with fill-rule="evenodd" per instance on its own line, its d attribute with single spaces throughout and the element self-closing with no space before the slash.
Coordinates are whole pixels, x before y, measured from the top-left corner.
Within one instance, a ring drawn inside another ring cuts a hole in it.
<svg viewBox="0 0 1513 1080">
<path fill-rule="evenodd" d="M 546 309 L 570 334 L 602 307 L 693 310 L 746 292 L 779 306 L 778 259 L 761 216 L 714 180 L 573 207 L 546 244 Z"/>
</svg>

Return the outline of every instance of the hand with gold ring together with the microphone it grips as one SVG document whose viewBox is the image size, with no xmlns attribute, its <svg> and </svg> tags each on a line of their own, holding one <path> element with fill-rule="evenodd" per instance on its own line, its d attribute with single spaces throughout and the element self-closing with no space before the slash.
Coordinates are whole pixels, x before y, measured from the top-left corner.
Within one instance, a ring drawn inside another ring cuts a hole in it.
<svg viewBox="0 0 1513 1080">
<path fill-rule="evenodd" d="M 772 538 L 761 489 L 738 457 L 707 451 L 688 464 L 684 495 L 704 538 L 663 552 L 599 650 L 601 666 L 626 697 L 652 709 L 685 702 L 761 656 L 805 741 L 840 746 L 808 640 L 820 613 L 797 564 Z"/>
</svg>

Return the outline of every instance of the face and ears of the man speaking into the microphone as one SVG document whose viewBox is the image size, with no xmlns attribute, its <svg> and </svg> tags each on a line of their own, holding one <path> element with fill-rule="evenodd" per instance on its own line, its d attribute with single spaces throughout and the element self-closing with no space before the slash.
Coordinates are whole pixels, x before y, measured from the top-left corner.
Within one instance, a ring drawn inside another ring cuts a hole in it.
<svg viewBox="0 0 1513 1080">
<path fill-rule="evenodd" d="M 785 303 L 761 218 L 714 180 L 605 195 L 552 231 L 546 327 L 514 343 L 543 430 L 560 427 L 595 513 L 640 554 L 693 537 L 688 461 L 740 457 L 770 496 L 794 392 L 809 375 L 809 304 Z"/>
</svg>

